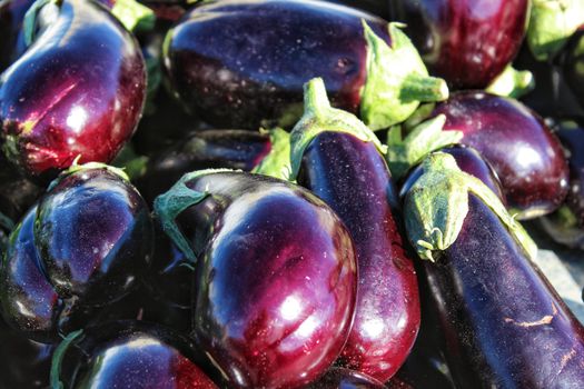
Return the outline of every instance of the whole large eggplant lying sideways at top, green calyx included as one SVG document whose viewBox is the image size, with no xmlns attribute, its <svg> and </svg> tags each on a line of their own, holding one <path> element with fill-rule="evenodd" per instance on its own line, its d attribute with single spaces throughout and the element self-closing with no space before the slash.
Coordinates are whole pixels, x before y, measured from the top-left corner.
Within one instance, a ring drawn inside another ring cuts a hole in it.
<svg viewBox="0 0 584 389">
<path fill-rule="evenodd" d="M 289 128 L 303 84 L 323 77 L 333 104 L 373 129 L 447 98 L 400 27 L 324 1 L 219 1 L 171 29 L 165 68 L 185 109 L 217 128 Z"/>
</svg>

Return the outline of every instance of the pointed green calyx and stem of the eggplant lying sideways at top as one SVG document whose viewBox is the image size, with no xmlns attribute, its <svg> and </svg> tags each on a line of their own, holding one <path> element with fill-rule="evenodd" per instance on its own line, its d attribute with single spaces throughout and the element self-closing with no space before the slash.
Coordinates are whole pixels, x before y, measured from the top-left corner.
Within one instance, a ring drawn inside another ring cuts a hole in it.
<svg viewBox="0 0 584 389">
<path fill-rule="evenodd" d="M 363 21 L 367 40 L 367 80 L 362 91 L 360 117 L 374 131 L 406 120 L 420 102 L 448 98 L 446 81 L 428 76 L 402 27 L 400 23 L 388 24 L 389 47 Z"/>
</svg>

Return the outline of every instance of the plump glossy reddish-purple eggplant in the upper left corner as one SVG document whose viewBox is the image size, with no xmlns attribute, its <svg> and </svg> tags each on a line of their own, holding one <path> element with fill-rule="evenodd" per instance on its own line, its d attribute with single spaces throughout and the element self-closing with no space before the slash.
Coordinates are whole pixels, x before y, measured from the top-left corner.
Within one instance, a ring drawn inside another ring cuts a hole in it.
<svg viewBox="0 0 584 389">
<path fill-rule="evenodd" d="M 146 93 L 135 38 L 102 6 L 63 0 L 0 77 L 2 149 L 22 172 L 51 179 L 81 156 L 109 162 L 132 134 Z"/>
</svg>

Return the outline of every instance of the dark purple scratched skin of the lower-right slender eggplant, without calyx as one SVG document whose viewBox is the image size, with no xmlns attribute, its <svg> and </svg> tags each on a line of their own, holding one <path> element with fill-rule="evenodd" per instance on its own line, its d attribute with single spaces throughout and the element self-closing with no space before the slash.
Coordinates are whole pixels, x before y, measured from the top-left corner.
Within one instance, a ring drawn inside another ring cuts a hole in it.
<svg viewBox="0 0 584 389">
<path fill-rule="evenodd" d="M 498 217 L 474 194 L 468 206 L 456 241 L 424 262 L 456 386 L 580 387 L 584 328 Z"/>
</svg>

